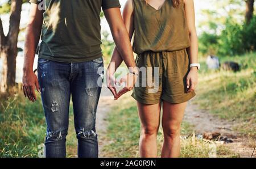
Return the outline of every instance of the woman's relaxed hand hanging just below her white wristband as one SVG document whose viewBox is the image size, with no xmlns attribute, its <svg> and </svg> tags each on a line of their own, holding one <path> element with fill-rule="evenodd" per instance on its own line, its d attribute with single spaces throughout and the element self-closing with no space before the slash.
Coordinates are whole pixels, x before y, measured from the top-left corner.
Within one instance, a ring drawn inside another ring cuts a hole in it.
<svg viewBox="0 0 256 169">
<path fill-rule="evenodd" d="M 193 92 L 196 89 L 198 79 L 197 67 L 191 67 L 187 75 L 187 92 Z"/>
</svg>

